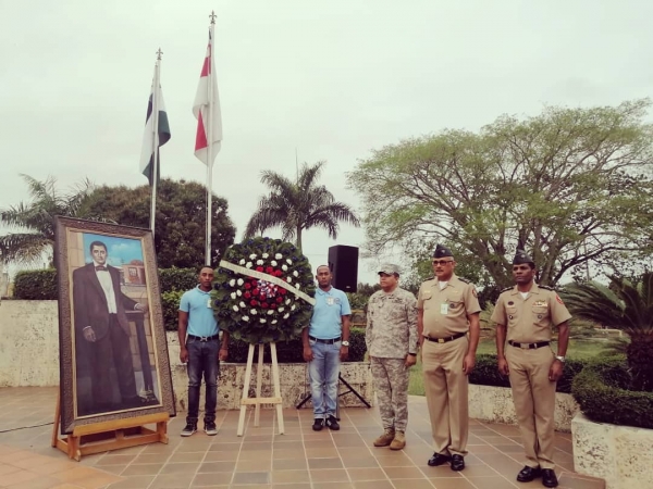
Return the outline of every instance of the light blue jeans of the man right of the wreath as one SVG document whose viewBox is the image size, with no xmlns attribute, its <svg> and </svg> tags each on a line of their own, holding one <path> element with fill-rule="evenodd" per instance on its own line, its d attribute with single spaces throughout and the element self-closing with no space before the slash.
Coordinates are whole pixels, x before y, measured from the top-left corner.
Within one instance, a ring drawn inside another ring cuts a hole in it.
<svg viewBox="0 0 653 489">
<path fill-rule="evenodd" d="M 310 341 L 313 360 L 308 364 L 310 394 L 315 417 L 335 416 L 341 342 L 333 344 Z"/>
</svg>

